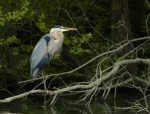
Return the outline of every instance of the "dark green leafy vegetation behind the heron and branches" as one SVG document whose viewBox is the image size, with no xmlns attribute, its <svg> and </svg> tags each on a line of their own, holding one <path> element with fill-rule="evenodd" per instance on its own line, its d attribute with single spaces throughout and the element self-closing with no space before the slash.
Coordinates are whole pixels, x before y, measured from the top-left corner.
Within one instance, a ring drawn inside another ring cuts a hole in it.
<svg viewBox="0 0 150 114">
<path fill-rule="evenodd" d="M 121 24 L 116 21 L 117 15 L 112 13 L 112 10 L 117 11 L 121 7 L 111 4 L 109 0 L 74 0 L 71 2 L 70 0 L 1 0 L 0 85 L 9 88 L 16 82 L 30 79 L 29 59 L 32 50 L 38 40 L 48 33 L 53 25 L 77 27 L 79 31 L 65 34 L 61 56 L 56 57 L 46 68 L 47 74 L 69 71 L 96 55 L 113 49 L 115 47 L 112 47 L 113 45 L 121 42 L 121 40 L 116 42 L 119 36 L 115 39 L 113 35 L 118 33 L 113 30 Z M 130 25 L 125 26 L 131 28 L 131 39 L 147 36 L 145 23 L 149 8 L 146 3 L 141 0 L 132 0 L 128 5 Z M 112 17 L 115 18 L 113 18 L 114 21 Z M 126 33 L 124 34 L 122 30 L 121 34 L 125 36 Z M 126 36 L 122 38 L 126 40 Z M 141 42 L 133 45 L 139 44 Z M 149 46 L 144 47 L 144 51 L 137 52 L 138 55 L 150 57 L 149 48 Z M 132 58 L 129 56 L 127 58 Z M 118 55 L 108 57 L 108 61 L 101 67 L 107 68 L 119 58 Z M 81 69 L 78 74 L 86 75 L 84 80 L 88 80 L 89 75 L 94 74 L 98 61 Z M 77 78 L 80 78 L 80 75 Z M 76 80 L 76 78 L 69 80 Z"/>
</svg>

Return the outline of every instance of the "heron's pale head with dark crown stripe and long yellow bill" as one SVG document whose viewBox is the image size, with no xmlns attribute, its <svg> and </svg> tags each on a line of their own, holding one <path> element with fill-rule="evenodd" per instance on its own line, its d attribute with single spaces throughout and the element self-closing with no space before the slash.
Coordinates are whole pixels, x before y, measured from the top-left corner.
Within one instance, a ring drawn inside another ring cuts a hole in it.
<svg viewBox="0 0 150 114">
<path fill-rule="evenodd" d="M 56 25 L 50 30 L 50 32 L 65 32 L 65 31 L 74 31 L 74 30 L 77 30 L 77 28 L 63 27 L 63 26 Z"/>
</svg>

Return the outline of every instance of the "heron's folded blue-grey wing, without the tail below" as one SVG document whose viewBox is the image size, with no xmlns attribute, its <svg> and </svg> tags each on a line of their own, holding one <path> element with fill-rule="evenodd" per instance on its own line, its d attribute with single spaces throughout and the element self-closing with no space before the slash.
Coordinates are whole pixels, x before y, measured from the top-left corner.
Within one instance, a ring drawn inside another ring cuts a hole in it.
<svg viewBox="0 0 150 114">
<path fill-rule="evenodd" d="M 50 36 L 48 34 L 46 34 L 36 44 L 36 46 L 32 52 L 31 58 L 30 58 L 31 74 L 35 70 L 36 66 L 41 62 L 41 60 L 47 55 L 47 53 L 48 53 L 47 45 L 48 45 L 50 39 L 51 39 Z"/>
</svg>

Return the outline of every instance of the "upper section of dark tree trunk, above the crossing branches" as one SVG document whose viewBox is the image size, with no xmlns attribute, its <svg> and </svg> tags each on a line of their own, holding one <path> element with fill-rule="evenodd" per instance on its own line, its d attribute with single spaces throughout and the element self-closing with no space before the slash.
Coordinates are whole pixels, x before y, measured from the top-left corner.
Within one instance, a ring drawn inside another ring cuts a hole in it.
<svg viewBox="0 0 150 114">
<path fill-rule="evenodd" d="M 128 0 L 112 1 L 112 38 L 115 42 L 128 40 L 131 37 L 131 25 L 129 20 Z"/>
</svg>

